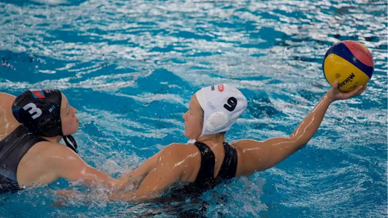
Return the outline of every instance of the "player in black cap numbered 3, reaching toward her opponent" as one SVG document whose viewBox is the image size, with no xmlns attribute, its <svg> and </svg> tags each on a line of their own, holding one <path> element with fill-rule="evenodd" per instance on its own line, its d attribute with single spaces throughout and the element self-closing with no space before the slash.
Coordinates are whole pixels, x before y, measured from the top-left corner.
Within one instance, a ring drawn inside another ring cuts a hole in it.
<svg viewBox="0 0 388 218">
<path fill-rule="evenodd" d="M 127 176 L 111 178 L 76 154 L 76 112 L 59 90 L 26 90 L 16 98 L 0 93 L 0 193 L 58 178 L 114 190 L 128 183 Z"/>
</svg>

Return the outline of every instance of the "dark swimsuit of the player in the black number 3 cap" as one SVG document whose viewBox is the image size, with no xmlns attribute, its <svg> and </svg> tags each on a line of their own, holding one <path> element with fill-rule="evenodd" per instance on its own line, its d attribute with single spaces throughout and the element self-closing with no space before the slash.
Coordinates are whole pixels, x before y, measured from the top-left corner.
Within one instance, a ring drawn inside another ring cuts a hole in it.
<svg viewBox="0 0 388 218">
<path fill-rule="evenodd" d="M 47 141 L 19 126 L 0 141 L 0 194 L 21 190 L 17 183 L 17 166 L 26 152 L 36 143 Z"/>
</svg>

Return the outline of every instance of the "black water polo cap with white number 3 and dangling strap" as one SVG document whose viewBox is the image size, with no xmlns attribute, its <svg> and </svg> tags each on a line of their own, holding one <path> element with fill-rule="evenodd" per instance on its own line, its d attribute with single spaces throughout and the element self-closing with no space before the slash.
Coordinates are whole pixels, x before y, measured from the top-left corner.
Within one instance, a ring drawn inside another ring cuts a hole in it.
<svg viewBox="0 0 388 218">
<path fill-rule="evenodd" d="M 29 132 L 43 137 L 60 135 L 66 145 L 76 152 L 77 143 L 74 138 L 71 135 L 64 136 L 62 132 L 61 102 L 61 91 L 57 89 L 26 90 L 16 97 L 12 113 Z"/>
</svg>

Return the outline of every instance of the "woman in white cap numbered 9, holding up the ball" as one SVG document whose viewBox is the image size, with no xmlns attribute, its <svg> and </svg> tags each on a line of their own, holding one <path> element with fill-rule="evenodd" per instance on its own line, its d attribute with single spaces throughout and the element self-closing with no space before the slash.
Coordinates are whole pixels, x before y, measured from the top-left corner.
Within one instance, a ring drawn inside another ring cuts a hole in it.
<svg viewBox="0 0 388 218">
<path fill-rule="evenodd" d="M 230 144 L 225 142 L 225 132 L 245 111 L 247 99 L 228 84 L 201 88 L 192 96 L 189 110 L 183 115 L 185 136 L 191 138 L 189 143 L 173 143 L 159 151 L 132 172 L 135 177 L 145 176 L 135 192 L 117 193 L 108 198 L 150 199 L 160 196 L 162 190 L 178 181 L 203 191 L 215 187 L 221 179 L 249 177 L 256 171 L 271 168 L 312 138 L 331 102 L 359 95 L 366 88 L 345 93 L 337 87 L 336 82 L 288 137 L 265 141 L 242 139 Z"/>
</svg>

